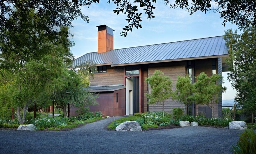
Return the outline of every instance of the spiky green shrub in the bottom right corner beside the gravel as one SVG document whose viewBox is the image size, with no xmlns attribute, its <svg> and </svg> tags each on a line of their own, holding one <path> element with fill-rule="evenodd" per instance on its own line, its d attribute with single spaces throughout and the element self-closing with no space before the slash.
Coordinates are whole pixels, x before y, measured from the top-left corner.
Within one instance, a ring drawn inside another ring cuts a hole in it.
<svg viewBox="0 0 256 154">
<path fill-rule="evenodd" d="M 236 146 L 232 145 L 234 154 L 255 154 L 256 153 L 256 132 L 253 130 L 245 130 L 239 135 Z"/>
</svg>

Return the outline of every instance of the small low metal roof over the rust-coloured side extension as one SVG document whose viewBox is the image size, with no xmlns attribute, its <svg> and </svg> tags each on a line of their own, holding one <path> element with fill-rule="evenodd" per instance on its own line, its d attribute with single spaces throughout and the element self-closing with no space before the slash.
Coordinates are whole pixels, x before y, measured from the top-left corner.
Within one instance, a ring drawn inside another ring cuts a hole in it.
<svg viewBox="0 0 256 154">
<path fill-rule="evenodd" d="M 119 89 L 124 89 L 124 85 L 100 85 L 85 87 L 84 90 L 90 90 L 90 92 L 105 92 L 105 91 L 115 91 Z"/>
</svg>

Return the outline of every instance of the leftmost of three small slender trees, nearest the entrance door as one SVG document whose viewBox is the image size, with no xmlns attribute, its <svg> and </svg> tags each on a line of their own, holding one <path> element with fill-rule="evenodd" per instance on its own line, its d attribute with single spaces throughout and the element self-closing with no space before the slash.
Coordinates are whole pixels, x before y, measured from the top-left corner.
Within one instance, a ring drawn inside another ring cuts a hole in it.
<svg viewBox="0 0 256 154">
<path fill-rule="evenodd" d="M 162 104 L 163 116 L 165 116 L 164 104 L 173 96 L 171 78 L 164 76 L 162 71 L 156 70 L 152 76 L 145 79 L 145 82 L 149 83 L 151 89 L 151 93 L 146 94 L 149 99 L 148 104 Z"/>
</svg>

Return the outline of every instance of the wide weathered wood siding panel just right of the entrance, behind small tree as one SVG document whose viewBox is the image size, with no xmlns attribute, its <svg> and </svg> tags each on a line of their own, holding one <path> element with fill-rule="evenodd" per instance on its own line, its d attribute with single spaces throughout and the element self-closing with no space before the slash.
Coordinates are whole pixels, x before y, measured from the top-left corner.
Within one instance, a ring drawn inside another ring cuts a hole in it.
<svg viewBox="0 0 256 154">
<path fill-rule="evenodd" d="M 148 76 L 151 76 L 155 70 L 160 70 L 164 73 L 164 75 L 171 77 L 172 80 L 172 90 L 176 89 L 176 82 L 178 76 L 185 76 L 186 74 L 186 62 L 170 62 L 170 63 L 161 63 L 161 64 L 152 64 L 148 67 Z M 151 89 L 149 87 L 149 93 Z M 168 99 L 165 102 L 165 111 L 172 112 L 172 108 L 184 108 L 185 113 L 185 105 L 181 104 L 177 101 L 173 101 L 172 99 Z M 162 105 L 149 105 L 149 111 L 162 111 Z"/>
</svg>

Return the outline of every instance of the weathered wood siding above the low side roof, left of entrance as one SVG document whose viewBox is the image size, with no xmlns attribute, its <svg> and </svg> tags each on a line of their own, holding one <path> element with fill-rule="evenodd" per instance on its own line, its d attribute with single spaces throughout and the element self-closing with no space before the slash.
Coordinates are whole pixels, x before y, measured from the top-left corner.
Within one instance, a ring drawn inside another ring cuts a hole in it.
<svg viewBox="0 0 256 154">
<path fill-rule="evenodd" d="M 90 86 L 124 84 L 124 68 L 107 66 L 107 72 L 94 73 Z"/>
</svg>

